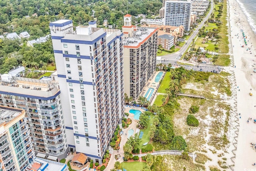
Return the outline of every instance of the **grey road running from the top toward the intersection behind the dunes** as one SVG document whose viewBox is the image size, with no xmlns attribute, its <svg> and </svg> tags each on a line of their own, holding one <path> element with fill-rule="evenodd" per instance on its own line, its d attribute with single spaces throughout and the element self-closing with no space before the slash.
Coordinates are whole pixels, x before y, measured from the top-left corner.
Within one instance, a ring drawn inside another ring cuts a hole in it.
<svg viewBox="0 0 256 171">
<path fill-rule="evenodd" d="M 198 34 L 198 30 L 201 29 L 204 26 L 204 22 L 206 22 L 208 20 L 208 18 L 210 17 L 210 15 L 212 14 L 214 9 L 214 3 L 213 0 L 211 0 L 211 9 L 210 12 L 207 14 L 207 16 L 204 18 L 204 20 L 202 20 L 201 24 L 198 25 L 198 27 L 196 28 L 195 31 L 193 31 L 192 35 L 188 38 L 188 40 L 186 41 L 187 44 L 184 44 L 182 46 L 182 48 L 175 52 L 172 53 L 170 55 L 164 55 L 162 56 L 162 59 L 167 59 L 168 61 L 161 61 L 161 63 L 171 63 L 172 65 L 176 64 L 176 62 L 178 61 L 178 59 L 176 59 L 176 57 L 178 56 L 178 54 L 180 53 L 185 53 L 185 51 L 188 49 L 188 47 L 190 46 L 190 43 L 192 42 L 192 40 L 196 37 L 196 35 Z M 187 66 L 187 65 L 186 65 Z M 216 67 L 214 67 L 216 69 Z"/>
</svg>

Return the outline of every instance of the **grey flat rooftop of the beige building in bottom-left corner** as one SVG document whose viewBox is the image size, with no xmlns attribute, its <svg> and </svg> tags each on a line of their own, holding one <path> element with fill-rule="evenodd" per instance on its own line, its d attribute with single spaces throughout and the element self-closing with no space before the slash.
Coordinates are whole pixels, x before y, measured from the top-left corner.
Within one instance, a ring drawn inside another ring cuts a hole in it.
<svg viewBox="0 0 256 171">
<path fill-rule="evenodd" d="M 8 108 L 5 106 L 0 106 L 0 124 L 10 122 L 16 116 L 22 114 L 21 109 Z"/>
</svg>

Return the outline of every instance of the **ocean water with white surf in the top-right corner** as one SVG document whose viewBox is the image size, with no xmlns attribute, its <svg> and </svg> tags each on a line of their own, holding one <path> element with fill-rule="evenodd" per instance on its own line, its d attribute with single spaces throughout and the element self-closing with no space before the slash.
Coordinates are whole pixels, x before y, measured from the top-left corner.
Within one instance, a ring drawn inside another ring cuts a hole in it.
<svg viewBox="0 0 256 171">
<path fill-rule="evenodd" d="M 236 0 L 256 33 L 256 0 Z"/>
</svg>

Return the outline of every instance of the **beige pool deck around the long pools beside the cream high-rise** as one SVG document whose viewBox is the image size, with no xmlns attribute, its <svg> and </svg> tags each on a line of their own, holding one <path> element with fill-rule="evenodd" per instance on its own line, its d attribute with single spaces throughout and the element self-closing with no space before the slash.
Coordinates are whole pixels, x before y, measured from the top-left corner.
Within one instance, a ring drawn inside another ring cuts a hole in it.
<svg viewBox="0 0 256 171">
<path fill-rule="evenodd" d="M 150 104 L 152 105 L 154 103 L 155 95 L 157 92 L 158 87 L 160 86 L 160 81 L 158 83 L 155 82 L 156 76 L 158 73 L 163 72 L 162 77 L 160 78 L 160 81 L 164 78 L 165 72 L 164 71 L 155 71 L 154 74 L 150 77 L 149 81 L 146 83 L 146 86 L 143 88 L 142 92 L 140 93 L 140 96 L 145 96 L 149 88 L 154 88 L 154 92 L 152 96 L 150 97 Z"/>
</svg>

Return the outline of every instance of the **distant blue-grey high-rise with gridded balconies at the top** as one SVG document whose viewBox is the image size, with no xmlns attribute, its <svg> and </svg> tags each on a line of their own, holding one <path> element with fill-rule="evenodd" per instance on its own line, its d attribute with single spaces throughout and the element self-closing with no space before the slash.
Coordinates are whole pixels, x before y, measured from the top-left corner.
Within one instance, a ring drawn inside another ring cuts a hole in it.
<svg viewBox="0 0 256 171">
<path fill-rule="evenodd" d="M 191 0 L 166 0 L 164 11 L 164 25 L 183 26 L 189 31 Z"/>
</svg>

